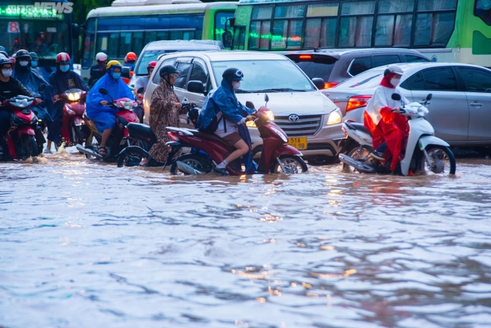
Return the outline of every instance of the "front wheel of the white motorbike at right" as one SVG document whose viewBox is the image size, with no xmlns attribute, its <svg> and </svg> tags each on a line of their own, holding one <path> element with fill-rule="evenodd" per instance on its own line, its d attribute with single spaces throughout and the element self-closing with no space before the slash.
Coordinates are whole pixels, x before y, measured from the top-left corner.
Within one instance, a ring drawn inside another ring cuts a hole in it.
<svg viewBox="0 0 491 328">
<path fill-rule="evenodd" d="M 431 166 L 426 162 L 426 157 L 422 156 L 419 168 L 427 174 L 455 174 L 455 156 L 454 153 L 445 146 L 429 145 L 426 147 L 430 157 Z"/>
</svg>

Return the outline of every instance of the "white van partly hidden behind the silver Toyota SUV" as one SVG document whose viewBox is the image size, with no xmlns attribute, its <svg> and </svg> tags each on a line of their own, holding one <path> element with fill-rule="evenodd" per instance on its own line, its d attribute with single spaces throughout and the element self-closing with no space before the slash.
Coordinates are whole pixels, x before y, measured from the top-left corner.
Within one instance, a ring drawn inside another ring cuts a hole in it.
<svg viewBox="0 0 491 328">
<path fill-rule="evenodd" d="M 149 42 L 143 47 L 135 64 L 133 77 L 128 86 L 135 88 L 136 79 L 148 74 L 147 66 L 152 60 L 159 60 L 163 54 L 179 51 L 224 50 L 221 41 L 215 40 L 161 40 Z"/>
</svg>

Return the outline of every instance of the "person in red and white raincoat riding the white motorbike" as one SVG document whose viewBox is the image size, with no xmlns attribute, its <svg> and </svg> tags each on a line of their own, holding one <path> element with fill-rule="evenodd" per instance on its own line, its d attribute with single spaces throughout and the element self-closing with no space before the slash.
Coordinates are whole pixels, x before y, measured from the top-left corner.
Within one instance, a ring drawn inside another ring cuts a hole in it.
<svg viewBox="0 0 491 328">
<path fill-rule="evenodd" d="M 383 156 L 383 152 L 388 148 L 393 158 L 390 165 L 392 171 L 395 170 L 399 162 L 403 141 L 406 140 L 409 133 L 407 119 L 398 114 L 401 101 L 392 99 L 392 93 L 400 94 L 396 87 L 402 74 L 403 70 L 399 66 L 389 65 L 383 72 L 380 86 L 375 89 L 375 93 L 363 112 L 364 124 L 372 133 L 373 148 L 375 149 L 370 153 L 370 156 L 385 160 L 388 156 Z M 409 103 L 409 100 L 404 96 L 401 95 L 401 98 L 404 103 Z"/>
</svg>

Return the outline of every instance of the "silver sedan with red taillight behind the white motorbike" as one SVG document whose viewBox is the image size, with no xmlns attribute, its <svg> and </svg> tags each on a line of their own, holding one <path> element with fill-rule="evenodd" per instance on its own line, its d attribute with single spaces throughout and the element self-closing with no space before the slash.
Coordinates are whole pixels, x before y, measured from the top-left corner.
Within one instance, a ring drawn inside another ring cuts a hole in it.
<svg viewBox="0 0 491 328">
<path fill-rule="evenodd" d="M 460 63 L 399 65 L 404 75 L 398 89 L 410 101 L 423 103 L 428 93 L 426 119 L 435 135 L 453 147 L 491 145 L 491 70 Z M 363 121 L 368 99 L 382 81 L 386 66 L 356 75 L 325 90 L 343 113 L 343 119 Z M 324 91 L 324 90 L 323 90 Z"/>
</svg>

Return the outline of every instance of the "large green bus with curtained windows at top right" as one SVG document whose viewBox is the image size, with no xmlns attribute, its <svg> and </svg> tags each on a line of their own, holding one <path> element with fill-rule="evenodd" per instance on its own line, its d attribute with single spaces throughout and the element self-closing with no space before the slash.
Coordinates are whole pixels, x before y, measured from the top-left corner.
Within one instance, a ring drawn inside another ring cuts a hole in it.
<svg viewBox="0 0 491 328">
<path fill-rule="evenodd" d="M 232 49 L 398 47 L 491 66 L 491 0 L 240 0 L 227 25 Z"/>
</svg>

